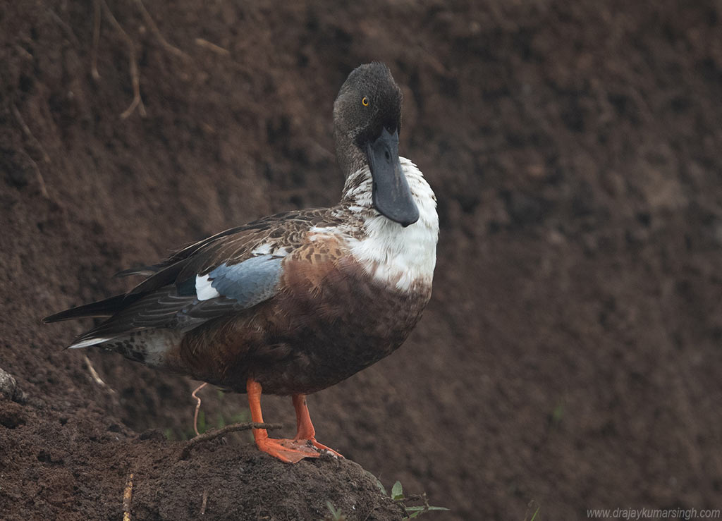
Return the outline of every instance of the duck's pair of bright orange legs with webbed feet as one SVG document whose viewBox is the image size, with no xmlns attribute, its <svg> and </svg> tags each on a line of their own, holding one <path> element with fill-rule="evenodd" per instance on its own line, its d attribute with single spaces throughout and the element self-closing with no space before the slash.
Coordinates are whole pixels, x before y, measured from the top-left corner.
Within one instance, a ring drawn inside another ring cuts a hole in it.
<svg viewBox="0 0 722 521">
<path fill-rule="evenodd" d="M 264 417 L 261 413 L 261 384 L 253 380 L 253 378 L 248 378 L 245 388 L 248 392 L 248 406 L 251 408 L 251 420 L 255 423 L 262 424 Z M 334 455 L 341 456 L 338 452 L 316 442 L 313 425 L 308 416 L 308 408 L 305 406 L 305 398 L 303 395 L 295 395 L 293 397 L 293 403 L 296 408 L 296 425 L 298 426 L 296 438 L 269 438 L 266 429 L 253 429 L 253 438 L 256 439 L 258 450 L 267 452 L 284 463 L 298 463 L 300 460 L 303 460 L 304 457 L 320 457 L 322 454 L 321 450 L 328 450 Z M 305 437 L 305 435 L 309 433 L 310 436 Z M 303 437 L 301 434 L 303 434 Z"/>
</svg>

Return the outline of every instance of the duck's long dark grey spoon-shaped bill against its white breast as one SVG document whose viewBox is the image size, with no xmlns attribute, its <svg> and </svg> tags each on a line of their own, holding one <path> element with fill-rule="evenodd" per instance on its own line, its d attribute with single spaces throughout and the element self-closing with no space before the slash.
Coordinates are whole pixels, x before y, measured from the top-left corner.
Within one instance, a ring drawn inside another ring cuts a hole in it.
<svg viewBox="0 0 722 521">
<path fill-rule="evenodd" d="M 375 141 L 366 146 L 368 164 L 373 178 L 373 206 L 379 213 L 403 227 L 419 220 L 409 183 L 399 161 L 399 132 L 386 128 Z"/>
</svg>

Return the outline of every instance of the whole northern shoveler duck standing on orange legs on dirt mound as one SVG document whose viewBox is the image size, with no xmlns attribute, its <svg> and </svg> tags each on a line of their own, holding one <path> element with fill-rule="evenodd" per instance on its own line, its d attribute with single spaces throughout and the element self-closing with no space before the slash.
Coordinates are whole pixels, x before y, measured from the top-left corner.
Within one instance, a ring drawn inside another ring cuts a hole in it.
<svg viewBox="0 0 722 521">
<path fill-rule="evenodd" d="M 108 317 L 71 348 L 98 346 L 151 367 L 248 393 L 292 395 L 295 439 L 254 429 L 280 460 L 337 452 L 316 442 L 305 395 L 391 354 L 431 295 L 436 199 L 399 157 L 401 90 L 383 64 L 359 66 L 334 102 L 346 182 L 331 208 L 290 211 L 227 229 L 154 266 L 126 294 L 45 318 Z"/>
</svg>

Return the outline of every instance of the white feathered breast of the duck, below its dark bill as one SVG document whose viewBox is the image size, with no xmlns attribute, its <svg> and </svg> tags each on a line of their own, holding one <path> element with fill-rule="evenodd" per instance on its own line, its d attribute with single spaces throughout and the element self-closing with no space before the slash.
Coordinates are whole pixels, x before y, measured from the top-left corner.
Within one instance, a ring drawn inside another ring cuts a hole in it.
<svg viewBox="0 0 722 521">
<path fill-rule="evenodd" d="M 421 171 L 405 157 L 401 169 L 419 207 L 419 220 L 404 228 L 378 212 L 365 217 L 364 238 L 349 238 L 352 255 L 365 271 L 384 284 L 409 291 L 417 284 L 431 284 L 436 266 L 436 242 L 439 218 L 436 198 Z M 361 207 L 371 206 L 370 175 L 355 188 L 355 202 Z"/>
</svg>

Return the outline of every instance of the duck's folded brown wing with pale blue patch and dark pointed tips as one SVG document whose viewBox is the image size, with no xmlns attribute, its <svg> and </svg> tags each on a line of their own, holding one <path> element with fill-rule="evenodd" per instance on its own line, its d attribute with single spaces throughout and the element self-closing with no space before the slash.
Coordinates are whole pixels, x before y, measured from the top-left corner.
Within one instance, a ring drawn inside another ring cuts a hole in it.
<svg viewBox="0 0 722 521">
<path fill-rule="evenodd" d="M 137 271 L 150 276 L 127 294 L 74 307 L 45 322 L 109 316 L 79 336 L 90 346 L 147 328 L 188 330 L 213 318 L 253 307 L 279 290 L 284 258 L 303 245 L 326 211 L 288 212 L 226 230 Z"/>
</svg>

